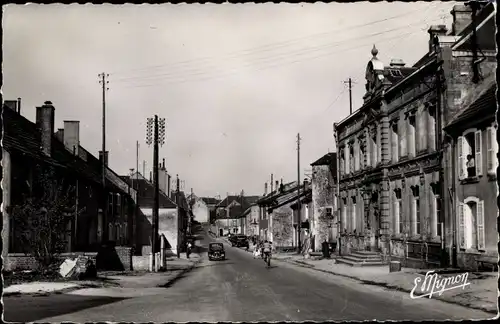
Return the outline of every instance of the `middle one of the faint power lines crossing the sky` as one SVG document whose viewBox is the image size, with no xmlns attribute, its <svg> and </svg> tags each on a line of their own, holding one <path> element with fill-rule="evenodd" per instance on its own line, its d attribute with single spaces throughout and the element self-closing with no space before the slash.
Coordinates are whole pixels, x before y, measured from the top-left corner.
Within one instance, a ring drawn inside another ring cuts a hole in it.
<svg viewBox="0 0 500 324">
<path fill-rule="evenodd" d="M 427 20 L 424 19 L 424 20 L 421 20 L 419 22 L 424 22 L 424 21 L 427 21 Z M 415 22 L 415 23 L 418 23 L 418 22 Z M 322 50 L 322 49 L 326 49 L 326 48 L 330 48 L 330 47 L 339 47 L 341 45 L 344 45 L 344 44 L 352 42 L 352 41 L 362 40 L 362 39 L 366 39 L 366 38 L 372 38 L 374 36 L 394 32 L 394 31 L 400 31 L 401 29 L 402 29 L 402 26 L 398 26 L 396 28 L 387 29 L 387 30 L 384 30 L 381 32 L 371 33 L 368 35 L 362 35 L 359 37 L 355 37 L 355 38 L 351 38 L 351 39 L 347 39 L 347 40 L 342 40 L 342 41 L 337 41 L 337 42 L 333 42 L 333 43 L 329 43 L 329 44 L 323 44 L 323 45 L 319 45 L 319 46 L 303 48 L 303 49 L 291 51 L 288 53 L 276 53 L 277 55 L 256 57 L 255 59 L 250 60 L 249 63 L 240 65 L 240 67 L 253 66 L 253 65 L 255 65 L 255 63 L 272 63 L 273 60 L 282 60 L 284 57 L 292 57 L 294 55 L 300 56 L 300 55 L 304 55 L 307 53 L 314 53 L 314 52 L 317 52 L 317 51 Z M 269 61 L 269 62 L 267 62 L 267 61 Z M 139 81 L 139 82 L 141 82 L 141 81 L 155 81 L 157 79 L 165 79 L 165 78 L 169 78 L 169 77 L 175 77 L 181 73 L 184 76 L 186 76 L 186 75 L 187 76 L 204 75 L 207 73 L 207 71 L 206 71 L 207 68 L 218 68 L 218 67 L 219 67 L 219 65 L 217 65 L 217 64 L 216 65 L 209 65 L 209 66 L 205 67 L 205 71 L 203 70 L 203 68 L 200 70 L 199 67 L 198 68 L 196 68 L 196 67 L 189 68 L 188 67 L 187 69 L 177 71 L 177 73 L 176 72 L 168 72 L 168 73 L 159 73 L 159 74 L 151 74 L 151 75 L 143 75 L 143 76 L 131 76 L 131 77 L 114 79 L 113 82 L 119 83 L 119 82 L 128 82 L 128 81 Z M 194 73 L 189 73 L 189 72 L 194 72 Z M 216 72 L 220 72 L 220 71 L 216 71 Z"/>
</svg>

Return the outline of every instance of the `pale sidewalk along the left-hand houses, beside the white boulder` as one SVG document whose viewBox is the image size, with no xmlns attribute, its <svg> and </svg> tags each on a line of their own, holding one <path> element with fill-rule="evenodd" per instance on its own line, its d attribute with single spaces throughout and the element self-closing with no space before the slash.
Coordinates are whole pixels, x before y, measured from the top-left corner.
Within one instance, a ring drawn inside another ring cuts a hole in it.
<svg viewBox="0 0 500 324">
<path fill-rule="evenodd" d="M 180 259 L 167 259 L 166 272 L 106 271 L 98 273 L 98 279 L 68 282 L 29 282 L 4 288 L 4 296 L 18 294 L 68 293 L 108 297 L 133 297 L 165 291 L 165 287 L 189 272 L 200 256 L 185 254 Z"/>
</svg>

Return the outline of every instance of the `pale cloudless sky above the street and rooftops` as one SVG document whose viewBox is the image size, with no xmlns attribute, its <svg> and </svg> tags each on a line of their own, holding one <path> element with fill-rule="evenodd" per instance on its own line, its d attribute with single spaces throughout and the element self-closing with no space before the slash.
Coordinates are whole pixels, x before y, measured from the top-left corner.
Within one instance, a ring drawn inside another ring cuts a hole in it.
<svg viewBox="0 0 500 324">
<path fill-rule="evenodd" d="M 373 45 L 413 65 L 454 2 L 3 6 L 3 88 L 22 114 L 50 100 L 56 128 L 80 121 L 98 156 L 107 73 L 106 148 L 120 175 L 146 161 L 147 118 L 166 119 L 160 161 L 198 196 L 261 195 L 335 151 L 333 123 L 361 107 Z"/>
</svg>

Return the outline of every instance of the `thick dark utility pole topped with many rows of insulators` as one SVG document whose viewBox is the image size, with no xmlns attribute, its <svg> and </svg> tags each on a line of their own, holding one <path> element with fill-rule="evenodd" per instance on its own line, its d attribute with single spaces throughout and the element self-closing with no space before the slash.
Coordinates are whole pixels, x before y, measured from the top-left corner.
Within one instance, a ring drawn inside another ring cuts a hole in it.
<svg viewBox="0 0 500 324">
<path fill-rule="evenodd" d="M 155 115 L 154 118 L 148 118 L 147 130 L 146 130 L 146 143 L 148 145 L 153 144 L 153 186 L 154 186 L 154 204 L 153 204 L 153 215 L 152 215 L 152 226 L 151 226 L 151 257 L 152 257 L 152 271 L 154 272 L 156 267 L 156 238 L 158 235 L 158 216 L 159 216 L 159 195 L 160 187 L 158 183 L 158 151 L 159 146 L 163 146 L 165 143 L 165 118 L 158 118 Z"/>
</svg>

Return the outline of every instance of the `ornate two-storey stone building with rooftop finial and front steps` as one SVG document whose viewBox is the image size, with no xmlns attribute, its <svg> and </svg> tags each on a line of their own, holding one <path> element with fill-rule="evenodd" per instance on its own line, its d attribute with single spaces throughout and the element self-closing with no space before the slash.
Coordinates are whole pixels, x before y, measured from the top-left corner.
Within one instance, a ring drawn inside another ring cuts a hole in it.
<svg viewBox="0 0 500 324">
<path fill-rule="evenodd" d="M 479 53 L 485 75 L 494 70 L 494 11 L 454 6 L 452 31 L 431 26 L 428 53 L 412 67 L 385 66 L 373 47 L 364 104 L 335 124 L 343 253 L 372 250 L 416 267 L 452 261 L 442 129 L 467 95 Z"/>
</svg>

